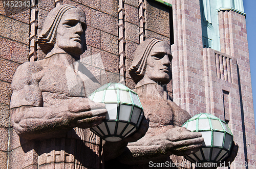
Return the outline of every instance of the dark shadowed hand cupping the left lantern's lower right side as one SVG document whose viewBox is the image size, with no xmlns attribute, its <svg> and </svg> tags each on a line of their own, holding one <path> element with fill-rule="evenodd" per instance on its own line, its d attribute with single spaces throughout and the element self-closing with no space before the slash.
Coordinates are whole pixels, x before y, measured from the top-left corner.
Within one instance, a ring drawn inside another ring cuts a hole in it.
<svg viewBox="0 0 256 169">
<path fill-rule="evenodd" d="M 136 142 L 138 139 L 142 138 L 146 134 L 148 126 L 149 126 L 148 121 L 146 120 L 146 118 L 144 116 L 141 121 L 139 130 L 136 131 L 134 134 L 124 138 L 123 141 L 127 142 L 127 143 Z"/>
</svg>

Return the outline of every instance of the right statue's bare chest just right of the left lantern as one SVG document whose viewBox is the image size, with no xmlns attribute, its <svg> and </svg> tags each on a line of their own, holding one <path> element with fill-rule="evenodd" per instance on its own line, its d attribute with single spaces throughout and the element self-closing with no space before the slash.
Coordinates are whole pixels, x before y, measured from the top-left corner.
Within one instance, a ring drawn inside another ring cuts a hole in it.
<svg viewBox="0 0 256 169">
<path fill-rule="evenodd" d="M 173 110 L 164 100 L 140 100 L 150 123 L 173 125 Z"/>
</svg>

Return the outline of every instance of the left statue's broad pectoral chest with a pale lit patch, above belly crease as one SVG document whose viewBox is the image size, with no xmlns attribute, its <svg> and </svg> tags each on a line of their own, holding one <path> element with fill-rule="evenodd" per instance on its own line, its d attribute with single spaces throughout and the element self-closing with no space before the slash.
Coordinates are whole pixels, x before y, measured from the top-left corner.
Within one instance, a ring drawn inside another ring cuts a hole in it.
<svg viewBox="0 0 256 169">
<path fill-rule="evenodd" d="M 61 66 L 49 66 L 44 69 L 47 69 L 45 75 L 38 83 L 42 93 L 69 97 L 84 96 L 83 82 L 72 69 Z"/>
</svg>

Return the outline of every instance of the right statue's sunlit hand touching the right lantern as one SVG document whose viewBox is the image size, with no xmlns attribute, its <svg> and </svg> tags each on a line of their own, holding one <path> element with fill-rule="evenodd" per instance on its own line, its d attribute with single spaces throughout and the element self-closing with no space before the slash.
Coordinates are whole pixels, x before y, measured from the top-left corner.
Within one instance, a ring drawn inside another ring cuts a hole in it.
<svg viewBox="0 0 256 169">
<path fill-rule="evenodd" d="M 165 136 L 167 151 L 178 156 L 196 153 L 204 140 L 200 132 L 191 132 L 185 127 L 169 129 Z"/>
</svg>

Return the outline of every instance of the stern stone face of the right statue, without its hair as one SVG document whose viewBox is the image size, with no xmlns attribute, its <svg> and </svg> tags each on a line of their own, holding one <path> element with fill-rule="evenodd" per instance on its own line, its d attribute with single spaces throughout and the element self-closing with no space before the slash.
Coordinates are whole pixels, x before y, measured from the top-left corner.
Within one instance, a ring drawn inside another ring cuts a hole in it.
<svg viewBox="0 0 256 169">
<path fill-rule="evenodd" d="M 167 84 L 170 79 L 170 61 L 172 61 L 170 46 L 164 42 L 157 42 L 147 58 L 145 76 L 156 82 Z"/>
</svg>

